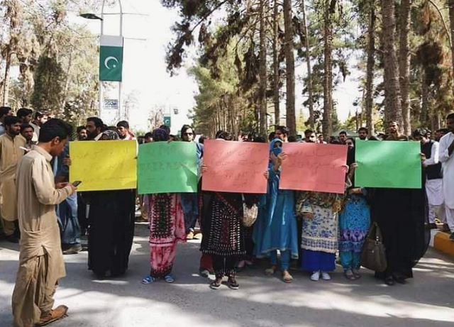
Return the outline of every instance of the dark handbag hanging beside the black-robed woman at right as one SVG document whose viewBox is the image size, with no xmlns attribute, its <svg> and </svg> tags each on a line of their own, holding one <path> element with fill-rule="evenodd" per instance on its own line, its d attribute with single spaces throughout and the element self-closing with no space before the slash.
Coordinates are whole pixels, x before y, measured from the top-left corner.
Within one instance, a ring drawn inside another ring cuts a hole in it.
<svg viewBox="0 0 454 327">
<path fill-rule="evenodd" d="M 362 246 L 361 265 L 376 272 L 384 272 L 388 264 L 383 245 L 382 231 L 377 223 L 372 223 L 367 238 Z"/>
</svg>

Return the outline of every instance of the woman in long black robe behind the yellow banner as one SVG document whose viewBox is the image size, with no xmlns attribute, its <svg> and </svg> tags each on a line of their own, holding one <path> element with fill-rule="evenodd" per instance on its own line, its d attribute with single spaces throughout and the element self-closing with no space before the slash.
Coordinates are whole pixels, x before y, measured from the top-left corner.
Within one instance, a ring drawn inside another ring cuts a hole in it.
<svg viewBox="0 0 454 327">
<path fill-rule="evenodd" d="M 104 131 L 99 139 L 119 140 L 114 131 Z M 85 192 L 84 199 L 89 204 L 89 270 L 99 278 L 121 276 L 133 245 L 135 190 Z"/>
</svg>

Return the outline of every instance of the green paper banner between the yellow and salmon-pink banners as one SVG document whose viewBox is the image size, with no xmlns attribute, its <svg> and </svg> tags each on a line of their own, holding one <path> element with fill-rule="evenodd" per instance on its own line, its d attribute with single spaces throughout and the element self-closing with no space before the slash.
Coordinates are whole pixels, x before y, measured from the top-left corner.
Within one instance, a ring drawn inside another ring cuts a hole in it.
<svg viewBox="0 0 454 327">
<path fill-rule="evenodd" d="M 139 146 L 138 193 L 197 192 L 196 145 L 152 142 Z"/>
</svg>

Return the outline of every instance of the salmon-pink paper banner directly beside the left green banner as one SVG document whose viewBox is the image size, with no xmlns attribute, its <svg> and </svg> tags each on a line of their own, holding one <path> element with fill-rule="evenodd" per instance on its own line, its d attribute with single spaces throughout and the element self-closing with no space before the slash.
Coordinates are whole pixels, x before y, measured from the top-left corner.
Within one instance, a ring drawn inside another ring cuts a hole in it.
<svg viewBox="0 0 454 327">
<path fill-rule="evenodd" d="M 270 159 L 266 143 L 206 140 L 204 191 L 266 193 L 265 172 Z"/>
</svg>

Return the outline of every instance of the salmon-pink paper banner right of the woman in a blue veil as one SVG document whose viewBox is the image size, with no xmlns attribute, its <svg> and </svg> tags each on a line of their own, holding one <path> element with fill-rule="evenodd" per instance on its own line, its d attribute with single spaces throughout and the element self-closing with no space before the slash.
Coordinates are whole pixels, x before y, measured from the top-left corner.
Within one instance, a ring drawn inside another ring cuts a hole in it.
<svg viewBox="0 0 454 327">
<path fill-rule="evenodd" d="M 319 143 L 284 143 L 279 189 L 342 194 L 345 187 L 347 146 Z"/>
</svg>

